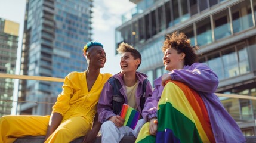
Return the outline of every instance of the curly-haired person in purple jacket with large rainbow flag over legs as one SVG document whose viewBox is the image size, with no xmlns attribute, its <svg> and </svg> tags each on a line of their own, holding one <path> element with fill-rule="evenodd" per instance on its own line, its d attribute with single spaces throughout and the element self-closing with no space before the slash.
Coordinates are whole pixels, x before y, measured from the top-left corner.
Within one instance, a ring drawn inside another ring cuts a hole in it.
<svg viewBox="0 0 256 143">
<path fill-rule="evenodd" d="M 214 94 L 217 75 L 206 64 L 197 63 L 196 49 L 184 33 L 166 35 L 162 51 L 169 73 L 154 80 L 152 97 L 143 110 L 149 122 L 136 142 L 245 142 Z"/>
</svg>

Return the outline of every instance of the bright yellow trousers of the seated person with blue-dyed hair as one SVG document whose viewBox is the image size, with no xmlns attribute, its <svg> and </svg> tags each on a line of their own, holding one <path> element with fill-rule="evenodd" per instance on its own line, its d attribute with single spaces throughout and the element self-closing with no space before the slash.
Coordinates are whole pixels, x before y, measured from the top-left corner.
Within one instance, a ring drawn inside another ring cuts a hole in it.
<svg viewBox="0 0 256 143">
<path fill-rule="evenodd" d="M 45 136 L 50 116 L 3 116 L 0 118 L 0 143 L 14 142 L 23 136 Z M 84 136 L 91 124 L 84 117 L 69 117 L 45 142 L 70 142 Z"/>
</svg>

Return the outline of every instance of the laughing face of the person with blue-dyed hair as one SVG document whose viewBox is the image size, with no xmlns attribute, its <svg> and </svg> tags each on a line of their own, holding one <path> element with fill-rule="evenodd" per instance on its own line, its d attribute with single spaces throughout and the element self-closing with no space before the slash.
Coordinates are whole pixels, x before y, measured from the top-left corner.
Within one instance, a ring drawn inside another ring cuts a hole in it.
<svg viewBox="0 0 256 143">
<path fill-rule="evenodd" d="M 101 46 L 93 46 L 88 50 L 87 58 L 89 65 L 97 68 L 104 67 L 106 63 L 106 53 Z"/>
</svg>

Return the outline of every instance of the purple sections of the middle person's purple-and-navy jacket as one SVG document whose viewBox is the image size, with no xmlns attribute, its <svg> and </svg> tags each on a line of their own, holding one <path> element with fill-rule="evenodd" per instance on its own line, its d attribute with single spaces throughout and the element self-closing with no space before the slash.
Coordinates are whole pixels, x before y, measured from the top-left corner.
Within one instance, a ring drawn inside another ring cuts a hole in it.
<svg viewBox="0 0 256 143">
<path fill-rule="evenodd" d="M 140 108 L 140 97 L 143 92 L 143 81 L 144 81 L 144 79 L 147 78 L 147 75 L 144 73 L 136 72 L 136 76 L 137 76 L 139 83 L 138 83 L 137 91 L 135 93 L 136 101 L 134 101 L 134 102 L 136 102 L 138 111 L 141 114 L 142 111 Z M 125 85 L 124 85 L 124 81 L 123 81 L 122 77 L 123 77 L 123 74 L 118 73 L 118 74 L 113 75 L 110 78 L 116 78 L 121 83 L 122 88 L 119 90 L 120 90 L 121 94 L 124 96 L 125 103 L 127 104 L 127 102 L 128 102 L 127 95 L 126 95 Z M 113 113 L 113 108 L 112 108 L 112 97 L 113 97 L 112 89 L 113 89 L 113 87 L 112 87 L 112 85 L 110 85 L 109 80 L 108 80 L 105 83 L 105 85 L 103 86 L 103 89 L 100 94 L 100 100 L 98 101 L 97 111 L 98 111 L 98 120 L 101 123 L 105 122 L 107 119 L 109 119 L 112 116 L 116 116 L 116 114 Z M 148 97 L 151 97 L 151 96 L 152 96 L 152 86 L 151 86 L 150 82 L 147 82 L 145 99 L 147 99 Z"/>
</svg>

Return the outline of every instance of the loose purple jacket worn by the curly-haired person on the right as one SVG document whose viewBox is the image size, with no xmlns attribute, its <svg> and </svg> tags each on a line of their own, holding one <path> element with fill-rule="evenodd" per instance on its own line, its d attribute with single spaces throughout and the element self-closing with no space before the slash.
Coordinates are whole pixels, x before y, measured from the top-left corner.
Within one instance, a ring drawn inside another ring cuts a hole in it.
<svg viewBox="0 0 256 143">
<path fill-rule="evenodd" d="M 239 126 L 214 94 L 218 87 L 218 77 L 206 64 L 194 63 L 191 66 L 184 66 L 180 70 L 172 70 L 168 74 L 172 80 L 186 83 L 201 96 L 209 114 L 216 142 L 245 142 L 245 137 Z M 161 77 L 154 81 L 154 85 L 152 97 L 147 98 L 144 105 L 144 119 L 157 116 L 158 101 L 164 89 Z"/>
</svg>

